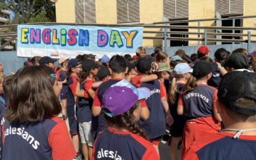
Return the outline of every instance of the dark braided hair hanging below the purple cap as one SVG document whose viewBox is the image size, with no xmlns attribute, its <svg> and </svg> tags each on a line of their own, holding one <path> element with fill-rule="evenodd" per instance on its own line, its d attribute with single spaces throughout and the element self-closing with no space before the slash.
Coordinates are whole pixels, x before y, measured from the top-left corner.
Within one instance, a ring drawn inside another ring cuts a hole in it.
<svg viewBox="0 0 256 160">
<path fill-rule="evenodd" d="M 104 115 L 106 118 L 106 122 L 108 123 L 108 125 L 112 126 L 112 125 L 116 125 L 117 127 L 120 128 L 125 128 L 130 132 L 133 132 L 134 134 L 137 134 L 143 138 L 145 138 L 146 140 L 148 140 L 145 132 L 139 127 L 138 122 L 136 122 L 133 117 L 132 117 L 132 113 L 133 111 L 139 107 L 139 102 L 137 102 L 136 104 L 134 104 L 134 106 L 132 106 L 132 108 L 130 108 L 127 112 L 123 113 L 122 115 L 118 115 L 118 116 L 113 116 L 113 117 L 109 117 L 107 115 Z M 103 108 L 104 111 L 106 111 L 107 113 L 109 113 L 110 111 L 108 111 L 108 109 Z"/>
</svg>

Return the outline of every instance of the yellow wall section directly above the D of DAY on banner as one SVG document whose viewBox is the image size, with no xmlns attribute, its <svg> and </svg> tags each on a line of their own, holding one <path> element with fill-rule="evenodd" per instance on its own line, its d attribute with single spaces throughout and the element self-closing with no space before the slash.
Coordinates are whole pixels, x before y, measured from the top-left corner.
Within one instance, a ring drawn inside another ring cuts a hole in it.
<svg viewBox="0 0 256 160">
<path fill-rule="evenodd" d="M 116 24 L 116 0 L 95 0 L 97 24 Z"/>
</svg>

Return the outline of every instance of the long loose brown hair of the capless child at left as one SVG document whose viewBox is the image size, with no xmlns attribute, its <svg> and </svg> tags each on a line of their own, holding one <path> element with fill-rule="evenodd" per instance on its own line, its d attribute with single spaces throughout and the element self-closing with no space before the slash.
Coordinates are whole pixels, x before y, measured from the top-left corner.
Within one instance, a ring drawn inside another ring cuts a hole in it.
<svg viewBox="0 0 256 160">
<path fill-rule="evenodd" d="M 45 65 L 21 68 L 12 78 L 6 120 L 40 122 L 61 112 L 54 93 L 54 70 Z"/>
</svg>

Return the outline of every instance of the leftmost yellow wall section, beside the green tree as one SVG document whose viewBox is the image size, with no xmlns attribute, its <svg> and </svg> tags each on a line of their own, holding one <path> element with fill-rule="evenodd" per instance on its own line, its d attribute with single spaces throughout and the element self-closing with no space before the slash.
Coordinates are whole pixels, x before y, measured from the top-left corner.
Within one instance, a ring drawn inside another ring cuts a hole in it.
<svg viewBox="0 0 256 160">
<path fill-rule="evenodd" d="M 56 22 L 76 23 L 75 0 L 60 0 L 56 4 Z"/>
</svg>

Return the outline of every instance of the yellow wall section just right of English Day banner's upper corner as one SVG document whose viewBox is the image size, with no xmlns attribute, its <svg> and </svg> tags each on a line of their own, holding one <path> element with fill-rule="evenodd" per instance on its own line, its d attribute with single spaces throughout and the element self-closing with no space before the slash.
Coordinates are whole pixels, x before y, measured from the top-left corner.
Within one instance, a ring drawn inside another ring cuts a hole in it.
<svg viewBox="0 0 256 160">
<path fill-rule="evenodd" d="M 152 23 L 163 20 L 163 0 L 140 0 L 140 22 Z M 161 29 L 144 29 L 145 31 L 161 31 Z M 144 34 L 143 36 L 161 36 Z M 144 47 L 162 46 L 162 40 L 143 40 Z"/>
</svg>

